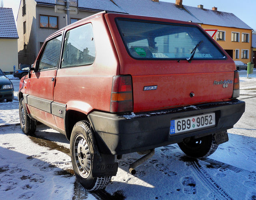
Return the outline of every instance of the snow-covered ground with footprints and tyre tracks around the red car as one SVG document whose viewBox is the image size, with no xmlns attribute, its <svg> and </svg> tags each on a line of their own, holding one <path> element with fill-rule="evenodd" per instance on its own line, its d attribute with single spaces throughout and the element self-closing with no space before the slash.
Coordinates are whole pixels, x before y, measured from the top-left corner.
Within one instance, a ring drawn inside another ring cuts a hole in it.
<svg viewBox="0 0 256 200">
<path fill-rule="evenodd" d="M 249 77 L 247 79 L 246 71 L 240 71 L 241 85 L 256 81 L 256 71 Z M 12 79 L 12 82 L 17 93 L 19 80 Z M 256 87 L 252 84 L 251 88 Z M 240 94 L 246 99 L 252 92 L 241 90 Z M 246 100 L 250 106 L 246 112 L 250 112 L 254 100 Z M 112 182 L 106 187 L 109 194 L 107 199 L 123 199 L 124 196 L 126 200 L 255 200 L 254 118 L 255 115 L 246 118 L 249 121 L 246 124 L 248 129 L 238 122 L 234 129 L 228 130 L 229 141 L 220 145 L 208 158 L 191 159 L 184 155 L 177 144 L 168 145 L 157 148 L 155 155 L 138 166 L 135 175 L 131 175 L 128 166 L 140 155 L 123 155 L 122 160 L 117 160 L 117 175 L 112 177 Z M 75 176 L 66 172 L 72 169 L 67 153 L 32 142 L 31 137 L 22 133 L 18 123 L 17 97 L 13 102 L 1 102 L 0 199 L 104 199 L 97 193 L 88 193 L 77 186 Z M 237 135 L 241 132 L 250 134 Z M 69 149 L 69 142 L 64 135 L 44 125 L 39 125 L 36 135 Z M 80 192 L 76 194 L 76 190 Z"/>
</svg>

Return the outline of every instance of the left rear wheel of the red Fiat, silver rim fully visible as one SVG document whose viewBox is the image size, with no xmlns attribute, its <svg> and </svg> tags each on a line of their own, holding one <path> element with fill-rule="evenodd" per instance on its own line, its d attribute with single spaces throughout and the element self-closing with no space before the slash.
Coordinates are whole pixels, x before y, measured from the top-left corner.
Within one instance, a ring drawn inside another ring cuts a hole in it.
<svg viewBox="0 0 256 200">
<path fill-rule="evenodd" d="M 98 150 L 88 121 L 79 121 L 74 125 L 70 138 L 70 154 L 76 178 L 87 190 L 100 190 L 111 181 L 112 176 L 92 176 L 94 155 L 98 154 Z"/>
</svg>

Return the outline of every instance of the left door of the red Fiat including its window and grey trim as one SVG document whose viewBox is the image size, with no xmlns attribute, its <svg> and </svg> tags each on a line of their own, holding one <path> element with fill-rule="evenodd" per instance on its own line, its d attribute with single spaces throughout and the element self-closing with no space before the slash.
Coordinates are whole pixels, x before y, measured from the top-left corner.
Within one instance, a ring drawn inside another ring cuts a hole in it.
<svg viewBox="0 0 256 200">
<path fill-rule="evenodd" d="M 36 72 L 30 75 L 28 107 L 32 117 L 52 127 L 55 126 L 51 113 L 54 84 L 60 61 L 62 34 L 49 39 L 43 46 L 43 51 L 37 57 Z"/>
</svg>

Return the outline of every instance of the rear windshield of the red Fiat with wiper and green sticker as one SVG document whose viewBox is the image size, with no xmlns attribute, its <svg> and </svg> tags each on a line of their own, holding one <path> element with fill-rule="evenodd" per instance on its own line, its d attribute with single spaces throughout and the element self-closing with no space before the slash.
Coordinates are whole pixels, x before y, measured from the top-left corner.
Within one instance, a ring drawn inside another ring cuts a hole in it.
<svg viewBox="0 0 256 200">
<path fill-rule="evenodd" d="M 193 54 L 193 59 L 226 59 L 224 53 L 196 26 L 116 21 L 128 53 L 136 59 L 182 60 L 190 59 Z"/>
</svg>

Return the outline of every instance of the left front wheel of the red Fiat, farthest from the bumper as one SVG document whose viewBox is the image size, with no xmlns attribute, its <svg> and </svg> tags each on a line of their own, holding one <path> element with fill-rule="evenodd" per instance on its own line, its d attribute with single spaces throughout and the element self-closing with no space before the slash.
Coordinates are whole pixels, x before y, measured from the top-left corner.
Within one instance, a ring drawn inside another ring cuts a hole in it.
<svg viewBox="0 0 256 200">
<path fill-rule="evenodd" d="M 19 115 L 20 115 L 20 126 L 26 135 L 32 135 L 36 132 L 36 121 L 32 120 L 28 116 L 28 111 L 24 102 L 24 99 L 20 99 L 19 105 Z"/>
</svg>

